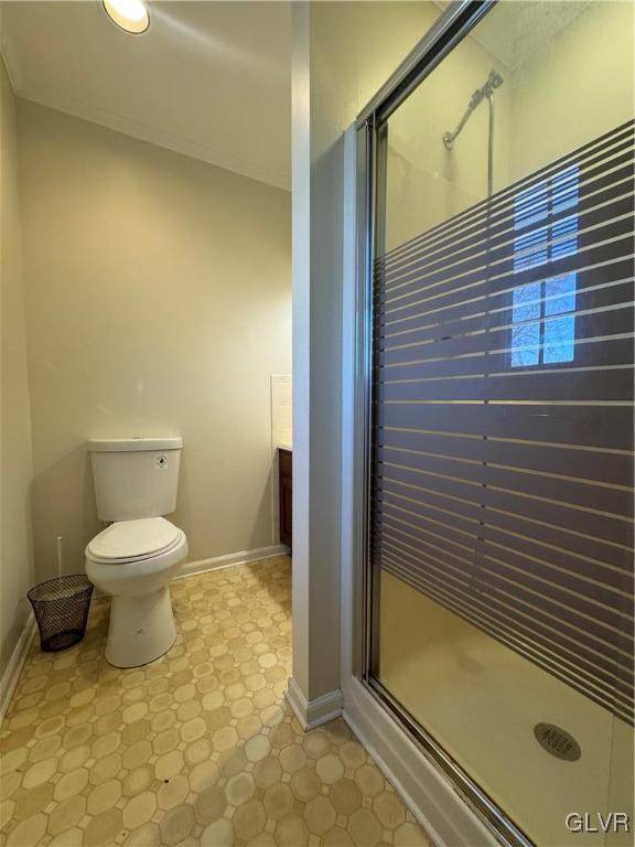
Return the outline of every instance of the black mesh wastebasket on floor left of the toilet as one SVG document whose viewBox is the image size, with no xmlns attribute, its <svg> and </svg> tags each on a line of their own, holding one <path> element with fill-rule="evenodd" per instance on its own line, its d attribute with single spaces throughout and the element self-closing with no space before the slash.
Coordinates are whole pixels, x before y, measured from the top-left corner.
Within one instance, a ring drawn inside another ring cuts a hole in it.
<svg viewBox="0 0 635 847">
<path fill-rule="evenodd" d="M 57 653 L 82 641 L 92 596 L 93 583 L 84 573 L 50 579 L 29 591 L 42 650 Z"/>
</svg>

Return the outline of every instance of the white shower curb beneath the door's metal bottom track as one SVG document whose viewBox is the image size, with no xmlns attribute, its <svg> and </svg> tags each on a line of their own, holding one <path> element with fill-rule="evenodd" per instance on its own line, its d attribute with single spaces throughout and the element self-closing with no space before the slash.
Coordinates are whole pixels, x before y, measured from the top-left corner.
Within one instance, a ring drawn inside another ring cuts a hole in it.
<svg viewBox="0 0 635 847">
<path fill-rule="evenodd" d="M 343 718 L 435 847 L 499 847 L 450 781 L 355 677 L 344 689 Z"/>
</svg>

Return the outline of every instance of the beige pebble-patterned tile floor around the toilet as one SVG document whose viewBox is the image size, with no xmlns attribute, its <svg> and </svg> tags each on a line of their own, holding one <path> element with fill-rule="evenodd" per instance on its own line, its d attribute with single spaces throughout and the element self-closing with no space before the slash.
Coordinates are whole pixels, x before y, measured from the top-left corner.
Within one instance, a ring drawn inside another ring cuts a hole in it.
<svg viewBox="0 0 635 847">
<path fill-rule="evenodd" d="M 429 841 L 343 720 L 302 732 L 284 700 L 287 557 L 172 583 L 179 635 L 144 667 L 85 640 L 39 645 L 0 728 L 8 847 L 417 845 Z"/>
</svg>

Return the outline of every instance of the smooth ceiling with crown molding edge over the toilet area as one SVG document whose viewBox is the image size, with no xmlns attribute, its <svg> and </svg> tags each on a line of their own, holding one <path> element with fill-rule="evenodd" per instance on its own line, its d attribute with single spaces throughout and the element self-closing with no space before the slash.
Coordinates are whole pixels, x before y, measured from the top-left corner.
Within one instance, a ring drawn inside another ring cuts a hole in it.
<svg viewBox="0 0 635 847">
<path fill-rule="evenodd" d="M 290 2 L 150 2 L 147 33 L 98 0 L 2 3 L 15 94 L 289 189 Z"/>
</svg>

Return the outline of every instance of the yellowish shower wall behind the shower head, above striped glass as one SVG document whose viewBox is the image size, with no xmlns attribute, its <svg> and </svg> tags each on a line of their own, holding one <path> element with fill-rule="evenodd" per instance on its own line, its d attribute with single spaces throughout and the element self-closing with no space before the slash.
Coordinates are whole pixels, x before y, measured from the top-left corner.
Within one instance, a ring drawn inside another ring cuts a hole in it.
<svg viewBox="0 0 635 847">
<path fill-rule="evenodd" d="M 390 250 L 487 196 L 488 105 L 474 110 L 453 149 L 470 98 L 501 62 L 464 39 L 388 120 L 386 249 Z M 494 191 L 506 182 L 509 90 L 495 93 Z"/>
</svg>

